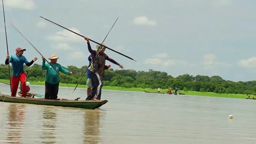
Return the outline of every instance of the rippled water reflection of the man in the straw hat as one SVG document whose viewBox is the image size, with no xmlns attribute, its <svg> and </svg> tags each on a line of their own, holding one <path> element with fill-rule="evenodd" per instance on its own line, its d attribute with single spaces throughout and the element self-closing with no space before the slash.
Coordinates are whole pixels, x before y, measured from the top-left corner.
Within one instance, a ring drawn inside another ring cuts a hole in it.
<svg viewBox="0 0 256 144">
<path fill-rule="evenodd" d="M 43 130 L 40 138 L 42 139 L 42 143 L 56 143 L 56 124 L 57 124 L 57 116 L 55 113 L 55 109 L 52 107 L 46 107 L 43 109 Z"/>
</svg>

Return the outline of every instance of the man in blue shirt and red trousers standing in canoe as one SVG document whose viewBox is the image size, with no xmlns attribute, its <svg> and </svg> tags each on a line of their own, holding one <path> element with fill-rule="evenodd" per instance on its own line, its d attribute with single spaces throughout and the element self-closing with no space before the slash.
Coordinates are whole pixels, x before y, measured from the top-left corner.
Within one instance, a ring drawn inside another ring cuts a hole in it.
<svg viewBox="0 0 256 144">
<path fill-rule="evenodd" d="M 9 62 L 12 63 L 12 77 L 11 77 L 11 84 L 12 84 L 12 97 L 16 97 L 19 82 L 22 85 L 22 97 L 26 98 L 27 92 L 26 92 L 26 74 L 23 69 L 24 63 L 29 67 L 31 66 L 37 58 L 34 58 L 30 62 L 28 62 L 27 58 L 23 55 L 23 52 L 26 51 L 26 49 L 23 49 L 23 47 L 19 46 L 15 49 L 15 54 L 13 55 L 6 55 L 5 65 L 8 65 Z"/>
</svg>

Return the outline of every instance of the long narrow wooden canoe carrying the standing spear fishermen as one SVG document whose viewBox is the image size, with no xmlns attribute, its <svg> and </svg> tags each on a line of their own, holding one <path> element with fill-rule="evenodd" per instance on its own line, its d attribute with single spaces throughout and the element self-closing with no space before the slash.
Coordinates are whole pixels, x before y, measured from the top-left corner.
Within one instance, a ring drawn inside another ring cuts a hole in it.
<svg viewBox="0 0 256 144">
<path fill-rule="evenodd" d="M 2 102 L 17 102 L 17 103 L 30 103 L 35 105 L 47 105 L 47 106 L 62 106 L 62 107 L 73 107 L 73 108 L 86 108 L 86 109 L 95 109 L 99 108 L 107 100 L 92 101 L 92 100 L 68 100 L 68 99 L 59 99 L 59 100 L 48 100 L 48 99 L 34 99 L 34 98 L 20 98 L 20 97 L 11 97 L 7 94 L 0 93 L 0 101 Z"/>
</svg>

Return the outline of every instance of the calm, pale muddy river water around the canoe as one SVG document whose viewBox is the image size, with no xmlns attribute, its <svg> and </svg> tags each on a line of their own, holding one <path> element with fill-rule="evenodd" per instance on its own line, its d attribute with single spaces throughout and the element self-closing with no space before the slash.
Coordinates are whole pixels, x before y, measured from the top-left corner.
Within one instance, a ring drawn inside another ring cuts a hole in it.
<svg viewBox="0 0 256 144">
<path fill-rule="evenodd" d="M 86 98 L 73 90 L 60 87 L 58 98 Z M 94 110 L 0 102 L 0 143 L 256 142 L 256 100 L 109 90 L 101 98 L 108 102 Z"/>
</svg>

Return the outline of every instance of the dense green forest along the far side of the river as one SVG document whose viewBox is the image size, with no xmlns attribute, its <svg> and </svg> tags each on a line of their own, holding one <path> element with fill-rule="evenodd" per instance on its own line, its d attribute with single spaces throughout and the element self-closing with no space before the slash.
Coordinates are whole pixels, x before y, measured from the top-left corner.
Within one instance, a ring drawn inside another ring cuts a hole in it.
<svg viewBox="0 0 256 144">
<path fill-rule="evenodd" d="M 27 79 L 31 81 L 45 81 L 46 70 L 42 70 L 41 65 L 34 64 L 31 67 L 24 65 Z M 65 67 L 73 72 L 73 75 L 60 74 L 67 83 L 77 84 L 84 74 L 87 66 L 77 68 L 75 66 Z M 11 73 L 12 74 L 12 73 Z M 9 66 L 0 65 L 0 79 L 9 79 Z M 86 84 L 86 73 L 80 84 Z M 65 83 L 60 78 L 61 83 Z M 172 77 L 165 72 L 155 71 L 135 71 L 132 69 L 123 70 L 105 70 L 103 77 L 105 86 L 121 86 L 121 87 L 141 87 L 156 89 L 169 89 L 169 87 L 178 87 L 183 91 L 199 91 L 199 92 L 215 92 L 215 93 L 239 93 L 256 95 L 256 81 L 249 82 L 233 82 L 226 81 L 220 76 L 192 76 L 189 74 Z"/>
</svg>

